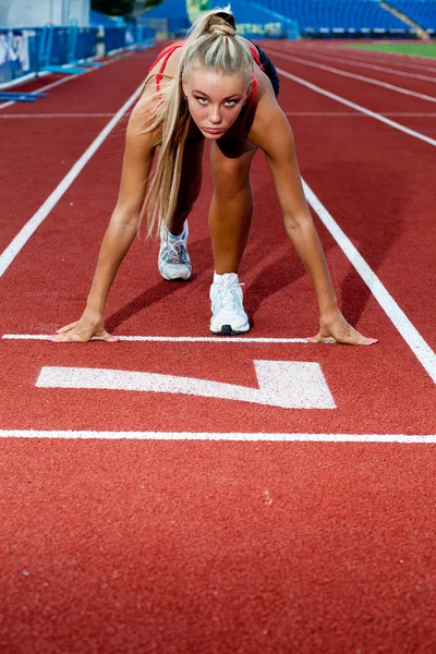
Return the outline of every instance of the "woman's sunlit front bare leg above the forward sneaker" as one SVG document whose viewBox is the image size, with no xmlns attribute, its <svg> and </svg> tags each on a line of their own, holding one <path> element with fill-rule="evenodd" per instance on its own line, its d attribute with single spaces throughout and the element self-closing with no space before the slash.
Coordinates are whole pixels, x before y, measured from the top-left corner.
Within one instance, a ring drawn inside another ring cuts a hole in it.
<svg viewBox="0 0 436 654">
<path fill-rule="evenodd" d="M 231 147 L 226 142 L 214 142 L 210 149 L 214 196 L 209 229 L 218 275 L 238 272 L 253 215 L 250 168 L 257 147 L 249 141 L 238 150 Z"/>
</svg>

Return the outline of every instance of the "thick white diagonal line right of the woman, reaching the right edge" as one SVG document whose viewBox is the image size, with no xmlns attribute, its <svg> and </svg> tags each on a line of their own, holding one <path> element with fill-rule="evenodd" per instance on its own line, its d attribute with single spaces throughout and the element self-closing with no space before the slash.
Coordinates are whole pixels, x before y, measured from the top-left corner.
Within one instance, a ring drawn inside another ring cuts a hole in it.
<svg viewBox="0 0 436 654">
<path fill-rule="evenodd" d="M 398 303 L 386 287 L 378 279 L 374 270 L 367 265 L 363 256 L 358 252 L 347 234 L 336 222 L 331 214 L 326 209 L 323 203 L 318 199 L 312 189 L 305 183 L 303 187 L 304 194 L 308 204 L 319 216 L 325 227 L 328 229 L 343 254 L 347 256 L 351 265 L 356 269 L 363 281 L 366 283 L 378 304 L 382 306 L 386 315 L 393 323 L 413 354 L 416 356 L 423 368 L 432 377 L 436 384 L 436 354 L 423 339 L 417 329 L 412 325 L 405 313 L 400 308 Z"/>
</svg>

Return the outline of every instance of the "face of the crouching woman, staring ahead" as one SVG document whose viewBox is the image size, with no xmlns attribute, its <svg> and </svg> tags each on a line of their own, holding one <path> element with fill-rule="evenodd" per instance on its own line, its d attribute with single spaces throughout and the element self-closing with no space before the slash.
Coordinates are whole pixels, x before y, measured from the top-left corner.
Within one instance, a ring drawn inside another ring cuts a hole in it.
<svg viewBox="0 0 436 654">
<path fill-rule="evenodd" d="M 232 126 L 245 102 L 243 75 L 227 75 L 194 68 L 183 80 L 193 121 L 206 138 L 218 140 Z"/>
</svg>

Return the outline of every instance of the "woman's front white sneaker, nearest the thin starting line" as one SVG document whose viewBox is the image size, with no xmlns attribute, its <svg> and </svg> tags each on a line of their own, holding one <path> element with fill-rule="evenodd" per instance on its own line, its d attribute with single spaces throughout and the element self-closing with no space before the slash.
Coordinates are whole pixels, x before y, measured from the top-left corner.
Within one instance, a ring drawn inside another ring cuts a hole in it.
<svg viewBox="0 0 436 654">
<path fill-rule="evenodd" d="M 210 331 L 234 336 L 250 330 L 249 316 L 242 305 L 242 289 L 235 272 L 214 275 L 210 287 Z"/>
</svg>

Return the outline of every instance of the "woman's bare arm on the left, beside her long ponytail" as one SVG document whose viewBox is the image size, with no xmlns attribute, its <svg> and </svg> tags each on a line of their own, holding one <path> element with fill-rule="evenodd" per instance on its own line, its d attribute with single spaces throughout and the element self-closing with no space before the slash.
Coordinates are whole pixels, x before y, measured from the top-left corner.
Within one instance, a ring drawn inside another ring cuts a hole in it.
<svg viewBox="0 0 436 654">
<path fill-rule="evenodd" d="M 155 154 L 156 134 L 144 133 L 149 120 L 148 100 L 143 97 L 129 120 L 118 202 L 101 242 L 85 312 L 51 340 L 83 342 L 93 336 L 114 340 L 105 329 L 102 313 L 109 289 L 137 232 Z"/>
</svg>

